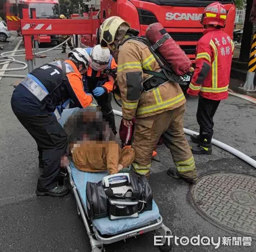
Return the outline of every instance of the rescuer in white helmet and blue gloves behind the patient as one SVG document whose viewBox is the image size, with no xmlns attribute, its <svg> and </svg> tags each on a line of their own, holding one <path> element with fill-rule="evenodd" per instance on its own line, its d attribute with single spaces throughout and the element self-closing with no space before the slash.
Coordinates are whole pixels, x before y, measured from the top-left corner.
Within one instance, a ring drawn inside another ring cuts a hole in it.
<svg viewBox="0 0 256 252">
<path fill-rule="evenodd" d="M 108 48 L 103 49 L 100 45 L 96 45 L 94 48 L 85 50 L 91 56 L 90 67 L 83 78 L 85 90 L 94 96 L 104 119 L 109 122 L 113 133 L 117 134 L 115 116 L 111 106 L 111 91 L 113 91 L 117 64 Z"/>
</svg>

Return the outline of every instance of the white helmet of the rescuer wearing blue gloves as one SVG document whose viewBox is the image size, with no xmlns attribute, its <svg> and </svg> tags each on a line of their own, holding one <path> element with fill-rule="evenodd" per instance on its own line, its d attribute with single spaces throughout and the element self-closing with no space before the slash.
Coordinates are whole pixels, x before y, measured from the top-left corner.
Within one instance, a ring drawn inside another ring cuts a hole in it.
<svg viewBox="0 0 256 252">
<path fill-rule="evenodd" d="M 110 59 L 110 50 L 95 45 L 91 50 L 91 68 L 95 71 L 102 71 L 108 67 Z"/>
</svg>

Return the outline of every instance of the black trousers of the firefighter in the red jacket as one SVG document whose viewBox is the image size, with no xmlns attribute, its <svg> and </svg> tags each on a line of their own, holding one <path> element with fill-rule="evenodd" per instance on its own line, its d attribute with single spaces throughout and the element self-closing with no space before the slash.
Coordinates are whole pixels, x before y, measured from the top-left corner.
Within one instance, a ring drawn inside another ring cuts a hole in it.
<svg viewBox="0 0 256 252">
<path fill-rule="evenodd" d="M 209 142 L 211 142 L 213 136 L 213 116 L 216 113 L 220 101 L 206 99 L 199 96 L 198 108 L 197 108 L 197 122 L 200 127 L 200 136 L 208 136 Z"/>
</svg>

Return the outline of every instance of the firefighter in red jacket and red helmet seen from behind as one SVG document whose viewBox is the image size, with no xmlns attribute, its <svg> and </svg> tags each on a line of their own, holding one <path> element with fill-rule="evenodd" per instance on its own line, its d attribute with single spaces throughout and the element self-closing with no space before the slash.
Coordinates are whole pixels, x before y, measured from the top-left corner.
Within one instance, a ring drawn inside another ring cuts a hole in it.
<svg viewBox="0 0 256 252">
<path fill-rule="evenodd" d="M 197 122 L 199 135 L 191 136 L 198 146 L 194 154 L 212 153 L 213 116 L 221 100 L 227 99 L 234 43 L 221 29 L 225 27 L 227 11 L 215 2 L 206 7 L 201 24 L 206 29 L 198 41 L 196 69 L 188 88 L 188 94 L 199 94 Z"/>
</svg>

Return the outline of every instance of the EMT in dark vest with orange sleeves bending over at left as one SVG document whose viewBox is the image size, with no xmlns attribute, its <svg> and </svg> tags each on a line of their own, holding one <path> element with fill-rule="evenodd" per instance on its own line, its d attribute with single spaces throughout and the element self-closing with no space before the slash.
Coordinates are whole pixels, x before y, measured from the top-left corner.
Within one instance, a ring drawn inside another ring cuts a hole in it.
<svg viewBox="0 0 256 252">
<path fill-rule="evenodd" d="M 13 113 L 38 144 L 39 162 L 43 166 L 36 189 L 40 196 L 62 197 L 68 193 L 59 176 L 68 141 L 58 119 L 70 99 L 79 108 L 92 102 L 92 96 L 83 91 L 81 75 L 89 67 L 90 56 L 84 49 L 76 48 L 68 57 L 64 62 L 44 64 L 27 74 L 11 98 Z"/>
</svg>

